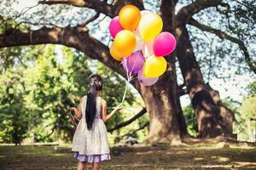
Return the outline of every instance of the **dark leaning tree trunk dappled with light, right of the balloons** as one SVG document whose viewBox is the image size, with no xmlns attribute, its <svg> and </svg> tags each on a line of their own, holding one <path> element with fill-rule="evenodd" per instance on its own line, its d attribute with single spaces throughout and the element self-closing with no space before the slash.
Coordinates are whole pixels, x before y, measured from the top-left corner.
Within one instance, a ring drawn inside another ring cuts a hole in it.
<svg viewBox="0 0 256 170">
<path fill-rule="evenodd" d="M 176 37 L 177 59 L 195 110 L 199 137 L 212 138 L 219 135 L 231 137 L 233 113 L 221 104 L 218 91 L 204 82 L 189 41 L 189 33 L 183 24 L 177 23 Z"/>
</svg>

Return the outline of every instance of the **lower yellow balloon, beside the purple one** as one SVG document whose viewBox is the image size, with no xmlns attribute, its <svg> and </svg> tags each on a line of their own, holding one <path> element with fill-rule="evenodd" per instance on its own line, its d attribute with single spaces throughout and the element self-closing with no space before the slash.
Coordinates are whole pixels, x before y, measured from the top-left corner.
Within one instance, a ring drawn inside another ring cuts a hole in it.
<svg viewBox="0 0 256 170">
<path fill-rule="evenodd" d="M 143 66 L 143 75 L 145 77 L 160 77 L 166 71 L 167 63 L 164 57 L 151 55 L 145 61 Z"/>
</svg>

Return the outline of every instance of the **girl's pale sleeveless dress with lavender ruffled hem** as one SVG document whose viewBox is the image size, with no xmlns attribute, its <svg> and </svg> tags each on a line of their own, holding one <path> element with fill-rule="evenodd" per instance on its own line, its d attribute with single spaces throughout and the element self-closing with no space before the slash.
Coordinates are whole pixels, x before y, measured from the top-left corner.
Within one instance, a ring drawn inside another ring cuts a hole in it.
<svg viewBox="0 0 256 170">
<path fill-rule="evenodd" d="M 87 96 L 81 104 L 82 118 L 73 135 L 72 151 L 79 161 L 100 162 L 110 160 L 107 128 L 102 121 L 102 98 L 96 97 L 96 118 L 92 128 L 88 130 L 85 120 Z"/>
</svg>

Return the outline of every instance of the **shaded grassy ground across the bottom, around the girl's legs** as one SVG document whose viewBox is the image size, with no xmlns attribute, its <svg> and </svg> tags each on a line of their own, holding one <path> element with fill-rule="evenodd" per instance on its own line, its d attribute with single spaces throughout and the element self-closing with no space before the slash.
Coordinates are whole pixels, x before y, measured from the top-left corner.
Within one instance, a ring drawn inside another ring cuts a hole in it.
<svg viewBox="0 0 256 170">
<path fill-rule="evenodd" d="M 256 169 L 256 148 L 247 144 L 193 144 L 113 148 L 101 169 Z M 0 169 L 76 169 L 69 146 L 0 146 Z M 87 165 L 89 169 L 90 164 Z"/>
</svg>

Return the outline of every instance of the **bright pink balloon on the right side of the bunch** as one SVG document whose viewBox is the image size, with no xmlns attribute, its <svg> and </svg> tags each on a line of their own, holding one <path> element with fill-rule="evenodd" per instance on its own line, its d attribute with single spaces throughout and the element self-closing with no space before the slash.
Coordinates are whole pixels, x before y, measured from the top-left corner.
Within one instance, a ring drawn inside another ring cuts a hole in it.
<svg viewBox="0 0 256 170">
<path fill-rule="evenodd" d="M 169 32 L 161 32 L 160 35 L 154 39 L 153 49 L 156 56 L 171 54 L 175 47 L 175 37 Z"/>
</svg>

